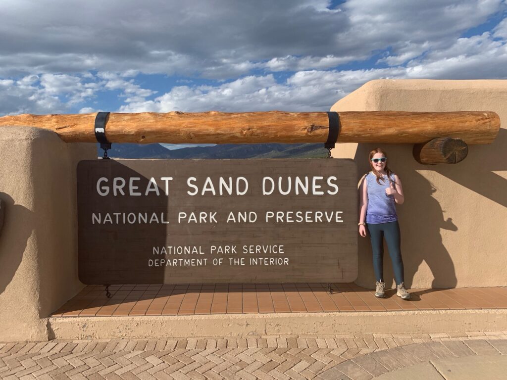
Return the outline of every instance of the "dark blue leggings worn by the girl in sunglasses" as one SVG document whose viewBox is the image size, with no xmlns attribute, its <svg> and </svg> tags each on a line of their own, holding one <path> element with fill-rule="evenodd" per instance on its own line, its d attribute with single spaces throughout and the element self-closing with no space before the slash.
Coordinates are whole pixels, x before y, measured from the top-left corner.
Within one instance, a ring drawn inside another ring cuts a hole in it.
<svg viewBox="0 0 507 380">
<path fill-rule="evenodd" d="M 397 221 L 388 223 L 368 224 L 370 240 L 372 242 L 373 269 L 377 281 L 384 281 L 384 242 L 387 242 L 389 255 L 391 256 L 392 269 L 396 285 L 404 282 L 403 260 L 400 249 L 400 225 Z"/>
</svg>

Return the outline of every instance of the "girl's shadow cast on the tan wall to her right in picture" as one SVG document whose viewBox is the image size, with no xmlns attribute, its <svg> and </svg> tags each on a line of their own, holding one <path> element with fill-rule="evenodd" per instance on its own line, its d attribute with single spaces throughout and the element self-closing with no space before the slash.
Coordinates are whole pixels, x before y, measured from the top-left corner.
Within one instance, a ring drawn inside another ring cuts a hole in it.
<svg viewBox="0 0 507 380">
<path fill-rule="evenodd" d="M 410 208 L 398 209 L 406 286 L 412 287 L 413 278 L 425 261 L 433 276 L 432 288 L 455 287 L 456 272 L 442 242 L 441 230 L 457 231 L 458 227 L 452 218 L 445 217 L 446 211 L 432 197 L 438 189 L 421 174 L 414 171 L 411 175 L 404 176 L 403 187 L 412 200 Z"/>
</svg>

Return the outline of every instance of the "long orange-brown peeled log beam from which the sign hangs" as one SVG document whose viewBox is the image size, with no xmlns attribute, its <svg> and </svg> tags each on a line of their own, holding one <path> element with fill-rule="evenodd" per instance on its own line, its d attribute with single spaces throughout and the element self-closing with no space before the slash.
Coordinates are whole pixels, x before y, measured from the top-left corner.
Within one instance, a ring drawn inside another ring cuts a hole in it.
<svg viewBox="0 0 507 380">
<path fill-rule="evenodd" d="M 500 128 L 495 112 L 339 112 L 339 142 L 424 143 L 437 137 L 489 144 Z M 66 142 L 95 142 L 95 113 L 18 115 L 0 126 L 30 126 L 56 132 Z M 111 142 L 134 143 L 308 143 L 325 142 L 326 112 L 111 113 L 105 134 Z"/>
</svg>

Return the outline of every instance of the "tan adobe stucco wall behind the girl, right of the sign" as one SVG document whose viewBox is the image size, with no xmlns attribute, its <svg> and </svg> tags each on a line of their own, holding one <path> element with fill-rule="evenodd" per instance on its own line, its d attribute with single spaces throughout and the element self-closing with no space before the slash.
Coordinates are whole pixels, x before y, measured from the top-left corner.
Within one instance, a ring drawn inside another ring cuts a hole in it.
<svg viewBox="0 0 507 380">
<path fill-rule="evenodd" d="M 469 145 L 467 158 L 455 165 L 420 165 L 408 144 L 337 144 L 333 157 L 355 159 L 361 175 L 370 170 L 369 152 L 377 146 L 386 150 L 405 192 L 397 211 L 409 287 L 507 285 L 507 81 L 377 80 L 331 110 L 498 113 L 496 140 Z M 374 287 L 370 240 L 359 235 L 358 240 L 356 283 Z M 385 250 L 387 283 L 391 268 Z"/>
</svg>

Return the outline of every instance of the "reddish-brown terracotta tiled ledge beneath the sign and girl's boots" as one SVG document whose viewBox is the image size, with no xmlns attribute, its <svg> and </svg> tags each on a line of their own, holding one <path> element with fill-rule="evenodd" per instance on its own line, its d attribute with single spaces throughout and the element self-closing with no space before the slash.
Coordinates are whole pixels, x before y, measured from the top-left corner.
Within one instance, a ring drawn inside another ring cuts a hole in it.
<svg viewBox="0 0 507 380">
<path fill-rule="evenodd" d="M 355 284 L 89 285 L 53 317 L 507 309 L 507 288 L 410 289 L 379 299 Z"/>
</svg>

